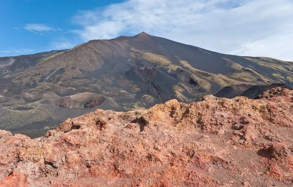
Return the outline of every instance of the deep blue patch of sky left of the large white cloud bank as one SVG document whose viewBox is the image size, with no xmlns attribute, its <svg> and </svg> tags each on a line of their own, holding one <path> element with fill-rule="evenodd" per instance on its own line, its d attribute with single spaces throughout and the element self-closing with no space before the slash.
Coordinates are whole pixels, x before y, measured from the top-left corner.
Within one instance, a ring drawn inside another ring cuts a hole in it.
<svg viewBox="0 0 293 187">
<path fill-rule="evenodd" d="M 82 43 L 78 35 L 68 32 L 80 28 L 73 23 L 72 16 L 79 10 L 117 2 L 121 0 L 0 0 L 0 51 L 4 51 L 0 56 L 69 48 Z"/>
</svg>

